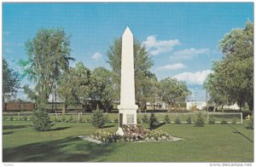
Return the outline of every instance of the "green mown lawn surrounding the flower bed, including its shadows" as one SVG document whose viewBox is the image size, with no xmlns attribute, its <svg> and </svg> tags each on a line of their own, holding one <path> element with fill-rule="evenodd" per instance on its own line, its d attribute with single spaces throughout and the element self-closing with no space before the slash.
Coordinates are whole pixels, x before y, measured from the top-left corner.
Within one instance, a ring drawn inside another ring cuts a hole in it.
<svg viewBox="0 0 256 167">
<path fill-rule="evenodd" d="M 253 130 L 244 124 L 163 124 L 157 130 L 184 141 L 101 145 L 77 137 L 96 131 L 89 123 L 56 123 L 47 132 L 30 124 L 3 121 L 3 162 L 253 162 Z"/>
</svg>

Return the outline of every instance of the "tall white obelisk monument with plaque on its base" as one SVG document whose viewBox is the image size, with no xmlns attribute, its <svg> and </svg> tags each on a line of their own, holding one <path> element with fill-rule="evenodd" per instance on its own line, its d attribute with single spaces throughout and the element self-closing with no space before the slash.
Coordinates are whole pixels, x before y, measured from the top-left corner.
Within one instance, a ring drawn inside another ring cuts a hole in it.
<svg viewBox="0 0 256 167">
<path fill-rule="evenodd" d="M 133 35 L 127 26 L 122 37 L 121 95 L 119 109 L 119 135 L 124 135 L 123 124 L 137 124 L 135 104 Z"/>
</svg>

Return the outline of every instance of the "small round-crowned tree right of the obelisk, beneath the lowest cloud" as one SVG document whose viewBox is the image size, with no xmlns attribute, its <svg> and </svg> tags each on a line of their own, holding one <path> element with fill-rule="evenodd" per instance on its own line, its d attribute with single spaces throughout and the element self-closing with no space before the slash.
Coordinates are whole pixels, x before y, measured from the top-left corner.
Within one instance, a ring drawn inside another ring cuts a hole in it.
<svg viewBox="0 0 256 167">
<path fill-rule="evenodd" d="M 168 104 L 169 112 L 171 111 L 172 105 L 185 101 L 190 94 L 191 92 L 187 88 L 187 85 L 184 82 L 177 81 L 176 78 L 164 78 L 160 80 L 160 97 L 162 101 Z"/>
</svg>

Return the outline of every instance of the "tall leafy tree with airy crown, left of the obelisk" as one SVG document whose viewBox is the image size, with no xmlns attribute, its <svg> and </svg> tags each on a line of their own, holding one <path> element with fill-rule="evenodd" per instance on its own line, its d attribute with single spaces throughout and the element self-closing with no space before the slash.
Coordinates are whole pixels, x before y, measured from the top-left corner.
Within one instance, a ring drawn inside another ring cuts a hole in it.
<svg viewBox="0 0 256 167">
<path fill-rule="evenodd" d="M 26 43 L 27 60 L 20 60 L 23 76 L 35 83 L 29 86 L 29 98 L 37 104 L 45 104 L 49 95 L 55 95 L 57 80 L 61 72 L 67 70 L 71 57 L 70 36 L 62 29 L 41 29 L 32 40 Z"/>
</svg>

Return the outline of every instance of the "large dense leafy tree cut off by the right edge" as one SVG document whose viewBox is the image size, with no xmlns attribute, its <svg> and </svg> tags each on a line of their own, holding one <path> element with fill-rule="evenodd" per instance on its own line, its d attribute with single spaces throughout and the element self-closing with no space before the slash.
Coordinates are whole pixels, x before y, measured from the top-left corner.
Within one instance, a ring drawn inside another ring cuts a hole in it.
<svg viewBox="0 0 256 167">
<path fill-rule="evenodd" d="M 218 43 L 224 54 L 222 60 L 215 61 L 212 74 L 204 83 L 215 101 L 245 103 L 253 111 L 253 23 L 233 29 Z"/>
</svg>

